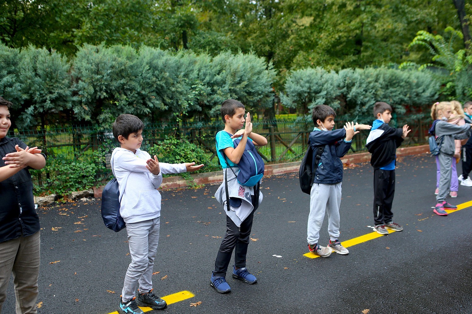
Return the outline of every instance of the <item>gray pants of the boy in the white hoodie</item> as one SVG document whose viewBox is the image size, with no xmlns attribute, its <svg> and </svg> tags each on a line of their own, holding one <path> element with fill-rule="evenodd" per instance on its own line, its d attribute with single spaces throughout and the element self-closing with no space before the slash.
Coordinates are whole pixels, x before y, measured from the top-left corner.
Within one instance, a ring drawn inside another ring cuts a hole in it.
<svg viewBox="0 0 472 314">
<path fill-rule="evenodd" d="M 123 302 L 135 297 L 139 282 L 139 292 L 152 290 L 152 267 L 159 243 L 160 217 L 126 224 L 131 263 L 126 271 L 121 296 Z"/>
</svg>

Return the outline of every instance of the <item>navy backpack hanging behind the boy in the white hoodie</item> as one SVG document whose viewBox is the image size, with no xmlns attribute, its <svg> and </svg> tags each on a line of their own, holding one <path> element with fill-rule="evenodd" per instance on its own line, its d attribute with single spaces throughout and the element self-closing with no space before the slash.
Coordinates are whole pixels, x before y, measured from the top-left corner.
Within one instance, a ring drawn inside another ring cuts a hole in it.
<svg viewBox="0 0 472 314">
<path fill-rule="evenodd" d="M 113 159 L 110 160 L 113 169 Z M 119 185 L 116 178 L 110 180 L 101 192 L 101 218 L 107 228 L 118 232 L 126 228 L 125 221 L 119 213 L 121 198 L 119 197 Z"/>
</svg>

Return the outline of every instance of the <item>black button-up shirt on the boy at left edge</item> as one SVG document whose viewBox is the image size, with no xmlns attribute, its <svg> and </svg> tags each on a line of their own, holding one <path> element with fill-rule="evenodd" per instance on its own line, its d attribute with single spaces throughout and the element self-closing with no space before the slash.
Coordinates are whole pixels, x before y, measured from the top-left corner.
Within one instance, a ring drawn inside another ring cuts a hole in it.
<svg viewBox="0 0 472 314">
<path fill-rule="evenodd" d="M 15 153 L 15 145 L 25 149 L 26 144 L 17 137 L 0 139 L 0 167 L 8 167 L 2 160 Z M 33 182 L 28 168 L 0 182 L 0 242 L 39 231 L 39 217 L 34 209 Z"/>
</svg>

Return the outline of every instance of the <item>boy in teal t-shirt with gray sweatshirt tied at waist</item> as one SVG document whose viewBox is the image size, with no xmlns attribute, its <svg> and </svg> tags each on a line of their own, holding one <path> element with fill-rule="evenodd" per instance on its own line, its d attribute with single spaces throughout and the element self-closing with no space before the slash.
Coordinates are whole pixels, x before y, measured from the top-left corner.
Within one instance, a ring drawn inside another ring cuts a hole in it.
<svg viewBox="0 0 472 314">
<path fill-rule="evenodd" d="M 236 180 L 236 174 L 239 171 L 237 164 L 243 156 L 247 141 L 252 141 L 256 146 L 263 146 L 267 145 L 267 139 L 252 132 L 251 117 L 249 113 L 245 118 L 244 115 L 244 105 L 237 100 L 228 99 L 221 105 L 221 117 L 225 122 L 225 128 L 216 135 L 216 150 L 219 163 L 223 168 L 223 183 L 215 193 L 215 198 L 225 208 L 227 230 L 219 247 L 215 269 L 210 279 L 211 287 L 219 293 L 231 291 L 228 282 L 226 282 L 226 272 L 233 250 L 235 250 L 233 278 L 249 284 L 257 282 L 256 277 L 246 269 L 246 254 L 253 225 L 254 210 L 258 208 L 262 200 L 262 194 L 259 191 L 259 185 L 245 186 L 239 184 Z M 245 127 L 244 121 L 246 123 Z M 233 138 L 236 137 L 242 138 L 235 148 Z M 227 210 L 227 191 L 229 210 Z"/>
</svg>

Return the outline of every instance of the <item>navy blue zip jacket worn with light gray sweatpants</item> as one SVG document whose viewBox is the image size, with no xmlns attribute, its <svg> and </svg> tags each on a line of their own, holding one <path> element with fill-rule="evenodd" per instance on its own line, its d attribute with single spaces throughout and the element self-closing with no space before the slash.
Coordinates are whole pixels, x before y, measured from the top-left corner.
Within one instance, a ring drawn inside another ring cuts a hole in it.
<svg viewBox="0 0 472 314">
<path fill-rule="evenodd" d="M 333 131 L 321 131 L 315 128 L 310 133 L 308 145 L 312 146 L 313 152 L 316 152 L 318 146 L 324 146 L 315 172 L 314 183 L 337 184 L 343 181 L 343 162 L 340 157 L 346 155 L 351 148 L 351 142 L 342 140 L 344 137 L 346 137 L 344 128 Z M 314 166 L 315 155 L 313 154 L 312 166 Z"/>
</svg>

